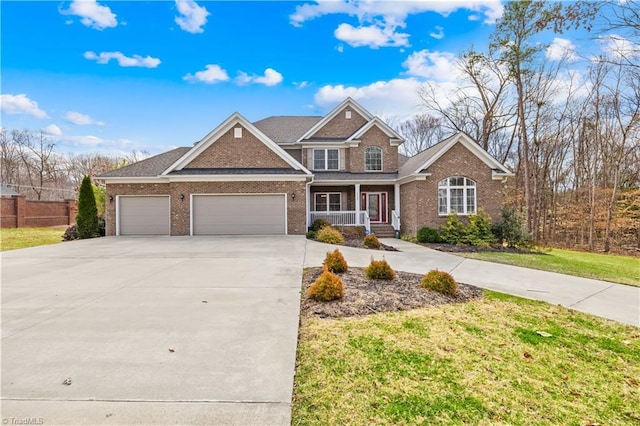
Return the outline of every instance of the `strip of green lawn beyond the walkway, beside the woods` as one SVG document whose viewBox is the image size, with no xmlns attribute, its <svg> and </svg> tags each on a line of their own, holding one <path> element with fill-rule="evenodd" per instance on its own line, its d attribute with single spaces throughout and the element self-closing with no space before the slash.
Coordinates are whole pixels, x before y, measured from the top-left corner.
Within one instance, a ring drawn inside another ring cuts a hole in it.
<svg viewBox="0 0 640 426">
<path fill-rule="evenodd" d="M 471 259 L 506 263 L 640 287 L 640 258 L 555 248 L 545 250 L 542 253 L 544 254 L 500 252 L 456 254 Z"/>
</svg>

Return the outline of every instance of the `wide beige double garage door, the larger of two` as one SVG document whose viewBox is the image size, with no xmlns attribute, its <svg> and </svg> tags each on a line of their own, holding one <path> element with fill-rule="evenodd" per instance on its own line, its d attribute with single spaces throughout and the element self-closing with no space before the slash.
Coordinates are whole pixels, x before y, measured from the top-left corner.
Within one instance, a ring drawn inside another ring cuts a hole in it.
<svg viewBox="0 0 640 426">
<path fill-rule="evenodd" d="M 194 235 L 286 233 L 284 194 L 194 195 Z"/>
</svg>

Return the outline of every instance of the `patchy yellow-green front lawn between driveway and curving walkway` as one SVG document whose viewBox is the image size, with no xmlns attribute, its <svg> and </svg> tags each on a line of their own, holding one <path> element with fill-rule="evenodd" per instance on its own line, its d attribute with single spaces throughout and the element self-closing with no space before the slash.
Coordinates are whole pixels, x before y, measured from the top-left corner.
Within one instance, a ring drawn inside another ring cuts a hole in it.
<svg viewBox="0 0 640 426">
<path fill-rule="evenodd" d="M 543 302 L 486 292 L 300 328 L 293 425 L 637 425 L 638 407 L 640 329 Z"/>
</svg>

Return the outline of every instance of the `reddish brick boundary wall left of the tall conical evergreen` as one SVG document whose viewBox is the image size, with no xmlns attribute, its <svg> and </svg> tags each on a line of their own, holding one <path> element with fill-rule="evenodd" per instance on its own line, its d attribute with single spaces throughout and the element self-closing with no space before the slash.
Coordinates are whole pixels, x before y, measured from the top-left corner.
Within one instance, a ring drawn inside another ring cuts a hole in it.
<svg viewBox="0 0 640 426">
<path fill-rule="evenodd" d="M 73 225 L 76 221 L 76 200 L 37 201 L 23 195 L 0 199 L 2 228 L 37 228 Z"/>
</svg>

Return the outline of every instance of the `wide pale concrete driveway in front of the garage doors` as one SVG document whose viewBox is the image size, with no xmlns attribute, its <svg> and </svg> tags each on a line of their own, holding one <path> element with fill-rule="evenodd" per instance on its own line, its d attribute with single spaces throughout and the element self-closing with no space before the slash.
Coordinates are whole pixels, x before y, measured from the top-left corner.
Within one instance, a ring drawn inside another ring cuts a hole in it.
<svg viewBox="0 0 640 426">
<path fill-rule="evenodd" d="M 304 252 L 293 236 L 4 252 L 3 419 L 289 424 Z"/>
</svg>

